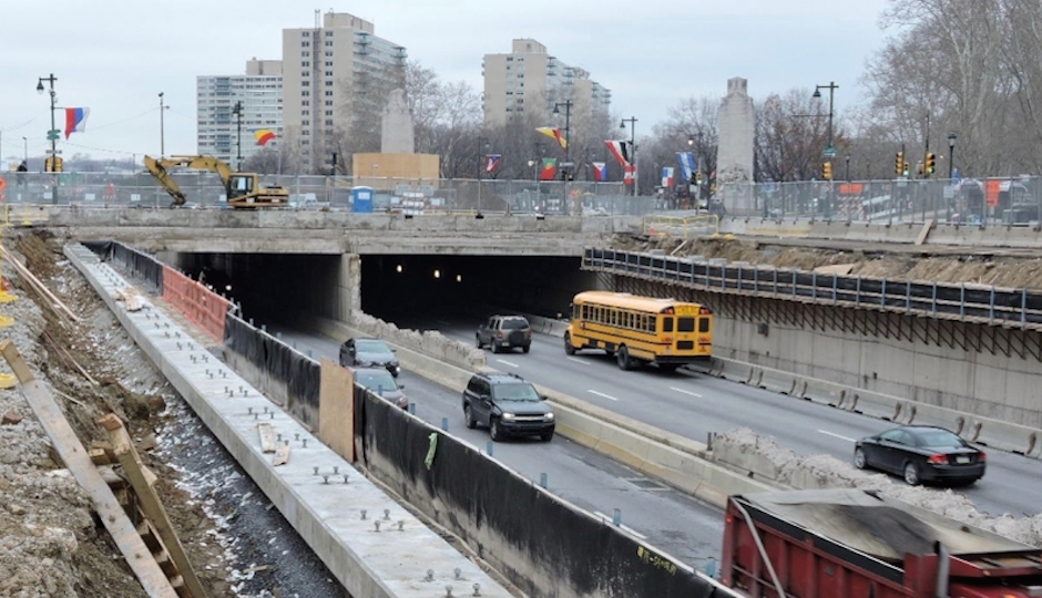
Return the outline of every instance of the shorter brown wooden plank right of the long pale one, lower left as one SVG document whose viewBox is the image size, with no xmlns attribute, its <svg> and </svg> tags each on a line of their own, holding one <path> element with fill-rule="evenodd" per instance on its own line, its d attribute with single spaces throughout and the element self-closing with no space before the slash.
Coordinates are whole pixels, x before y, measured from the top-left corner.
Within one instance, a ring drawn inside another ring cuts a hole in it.
<svg viewBox="0 0 1042 598">
<path fill-rule="evenodd" d="M 141 457 L 137 455 L 133 442 L 131 442 L 130 434 L 123 427 L 123 422 L 115 414 L 110 413 L 99 420 L 99 423 L 109 432 L 112 451 L 120 460 L 120 465 L 123 466 L 123 474 L 130 480 L 142 511 L 159 533 L 170 559 L 177 569 L 176 573 L 180 573 L 184 578 L 185 587 L 193 597 L 205 598 L 206 592 L 203 590 L 203 585 L 195 576 L 195 570 L 192 568 L 192 564 L 188 563 L 188 555 L 185 553 L 181 539 L 166 516 L 163 502 L 155 493 L 155 486 L 153 485 L 155 475 L 141 462 Z M 171 577 L 172 574 L 167 569 L 164 568 L 167 576 Z"/>
</svg>

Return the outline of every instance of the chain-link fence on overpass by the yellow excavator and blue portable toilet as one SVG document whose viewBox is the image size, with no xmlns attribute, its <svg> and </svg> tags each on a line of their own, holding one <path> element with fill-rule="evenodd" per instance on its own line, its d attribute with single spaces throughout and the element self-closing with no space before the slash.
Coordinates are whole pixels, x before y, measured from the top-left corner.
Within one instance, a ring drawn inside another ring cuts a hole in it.
<svg viewBox="0 0 1042 598">
<path fill-rule="evenodd" d="M 147 173 L 3 173 L 4 200 L 53 205 L 166 207 L 171 197 Z M 213 173 L 171 173 L 187 207 L 224 207 L 225 189 Z M 633 197 L 622 183 L 585 181 L 418 179 L 349 176 L 260 175 L 262 186 L 282 186 L 296 208 L 351 209 L 351 188 L 372 188 L 372 209 L 406 214 L 484 212 L 544 215 L 643 216 L 662 208 Z"/>
</svg>

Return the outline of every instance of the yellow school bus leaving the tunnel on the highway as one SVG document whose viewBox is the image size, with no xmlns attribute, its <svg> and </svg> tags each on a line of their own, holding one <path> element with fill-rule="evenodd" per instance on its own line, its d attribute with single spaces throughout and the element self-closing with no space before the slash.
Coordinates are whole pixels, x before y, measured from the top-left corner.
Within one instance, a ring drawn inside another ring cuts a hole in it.
<svg viewBox="0 0 1042 598">
<path fill-rule="evenodd" d="M 599 349 L 631 370 L 654 363 L 662 370 L 708 361 L 713 312 L 699 305 L 629 292 L 585 291 L 572 299 L 564 352 Z"/>
</svg>

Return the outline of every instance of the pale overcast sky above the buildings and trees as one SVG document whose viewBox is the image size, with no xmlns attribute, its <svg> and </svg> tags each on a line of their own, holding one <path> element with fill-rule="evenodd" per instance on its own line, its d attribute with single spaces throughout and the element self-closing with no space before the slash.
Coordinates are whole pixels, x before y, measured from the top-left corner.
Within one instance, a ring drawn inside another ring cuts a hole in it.
<svg viewBox="0 0 1042 598">
<path fill-rule="evenodd" d="M 0 8 L 0 156 L 48 147 L 50 101 L 39 78 L 58 78 L 60 107 L 90 107 L 84 133 L 62 155 L 126 158 L 195 153 L 195 78 L 245 72 L 251 58 L 280 59 L 282 30 L 311 27 L 315 10 L 349 12 L 405 45 L 443 81 L 482 89 L 481 58 L 533 38 L 612 91 L 612 111 L 637 117 L 637 136 L 686 97 L 721 97 L 743 76 L 759 100 L 835 81 L 838 109 L 860 103 L 866 60 L 888 33 L 888 0 L 358 0 L 306 7 L 293 0 L 10 0 Z M 58 112 L 58 128 L 63 113 Z"/>
</svg>

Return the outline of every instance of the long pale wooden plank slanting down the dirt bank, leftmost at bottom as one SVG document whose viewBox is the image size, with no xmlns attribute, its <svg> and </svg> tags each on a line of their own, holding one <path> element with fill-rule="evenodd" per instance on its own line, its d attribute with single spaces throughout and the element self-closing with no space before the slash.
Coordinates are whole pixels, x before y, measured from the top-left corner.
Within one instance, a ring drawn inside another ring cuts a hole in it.
<svg viewBox="0 0 1042 598">
<path fill-rule="evenodd" d="M 29 365 L 10 340 L 0 342 L 0 353 L 21 383 L 22 394 L 32 408 L 37 420 L 47 432 L 51 444 L 58 450 L 62 462 L 69 467 L 76 483 L 86 492 L 99 518 L 109 530 L 113 542 L 131 570 L 141 581 L 145 592 L 155 598 L 175 598 L 177 592 L 152 558 L 134 524 L 126 516 L 98 468 L 91 463 L 86 448 L 76 437 L 72 426 L 62 414 L 58 401 L 39 380 L 33 379 Z"/>
</svg>

